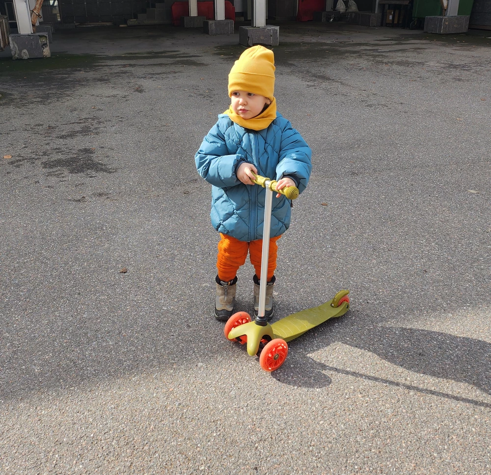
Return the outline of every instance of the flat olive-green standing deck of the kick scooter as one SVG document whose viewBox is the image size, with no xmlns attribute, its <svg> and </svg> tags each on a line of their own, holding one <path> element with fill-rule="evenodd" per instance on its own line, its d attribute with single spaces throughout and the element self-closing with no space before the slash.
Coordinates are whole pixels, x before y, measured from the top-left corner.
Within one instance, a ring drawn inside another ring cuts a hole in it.
<svg viewBox="0 0 491 475">
<path fill-rule="evenodd" d="M 319 307 L 302 310 L 272 323 L 271 327 L 274 336 L 276 338 L 282 338 L 285 342 L 289 342 L 300 337 L 300 335 L 303 335 L 308 330 L 324 323 L 329 318 L 341 317 L 348 311 L 350 307 L 348 302 L 342 302 L 339 307 L 332 307 L 332 300 L 319 305 Z"/>
</svg>

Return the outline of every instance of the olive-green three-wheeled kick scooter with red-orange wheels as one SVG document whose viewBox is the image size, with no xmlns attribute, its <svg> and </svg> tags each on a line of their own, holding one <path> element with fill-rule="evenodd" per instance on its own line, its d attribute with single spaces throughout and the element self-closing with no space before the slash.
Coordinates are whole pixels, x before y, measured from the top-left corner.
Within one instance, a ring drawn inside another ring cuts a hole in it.
<svg viewBox="0 0 491 475">
<path fill-rule="evenodd" d="M 340 290 L 334 298 L 308 310 L 281 318 L 273 324 L 268 323 L 265 316 L 266 285 L 268 273 L 268 255 L 270 247 L 271 210 L 273 204 L 273 191 L 294 200 L 299 196 L 296 186 L 289 186 L 276 190 L 277 182 L 269 178 L 256 175 L 253 182 L 266 188 L 264 205 L 264 231 L 261 255 L 261 277 L 259 282 L 259 310 L 257 317 L 252 320 L 248 313 L 237 312 L 225 324 L 225 337 L 230 341 L 247 344 L 247 353 L 250 356 L 259 355 L 259 364 L 266 371 L 278 369 L 288 355 L 288 344 L 306 331 L 324 323 L 329 318 L 341 317 L 350 308 L 349 290 Z"/>
</svg>

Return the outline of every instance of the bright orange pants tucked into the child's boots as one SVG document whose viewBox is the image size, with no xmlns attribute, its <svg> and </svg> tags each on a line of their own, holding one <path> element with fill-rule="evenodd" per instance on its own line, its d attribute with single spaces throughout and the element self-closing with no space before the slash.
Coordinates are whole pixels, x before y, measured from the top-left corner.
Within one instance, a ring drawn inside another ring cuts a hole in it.
<svg viewBox="0 0 491 475">
<path fill-rule="evenodd" d="M 250 263 L 254 266 L 256 276 L 261 277 L 261 255 L 263 250 L 263 240 L 239 241 L 220 233 L 221 240 L 218 242 L 217 269 L 218 278 L 222 282 L 230 282 L 237 275 L 241 265 L 246 263 L 247 251 L 249 252 Z M 281 236 L 270 239 L 270 254 L 268 259 L 268 282 L 271 281 L 276 269 L 276 256 L 278 254 L 278 245 L 276 241 Z"/>
</svg>

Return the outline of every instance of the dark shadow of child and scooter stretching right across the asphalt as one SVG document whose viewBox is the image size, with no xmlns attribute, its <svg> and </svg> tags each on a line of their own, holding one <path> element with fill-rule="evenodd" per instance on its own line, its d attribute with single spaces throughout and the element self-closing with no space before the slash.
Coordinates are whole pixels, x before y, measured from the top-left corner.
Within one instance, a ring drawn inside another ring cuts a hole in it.
<svg viewBox="0 0 491 475">
<path fill-rule="evenodd" d="M 317 347 L 324 347 L 319 344 L 320 340 L 332 331 L 333 327 L 327 325 L 325 329 L 318 332 L 314 350 L 318 349 Z M 308 334 L 301 338 L 308 338 Z M 491 395 L 491 344 L 482 340 L 414 328 L 373 325 L 358 327 L 357 331 L 353 327 L 345 331 L 337 327 L 329 340 L 331 343 L 341 342 L 369 351 L 409 371 L 469 384 Z M 464 400 L 464 398 L 437 391 L 330 367 L 312 360 L 305 351 L 302 351 L 301 340 L 291 342 L 290 345 L 292 353 L 295 352 L 295 357 L 292 358 L 289 369 L 281 371 L 280 368 L 279 371 L 273 373 L 273 377 L 286 384 L 307 387 L 326 386 L 331 380 L 324 374 L 324 371 L 333 371 L 380 381 L 384 384 L 407 387 L 410 390 Z M 485 405 L 491 407 L 491 404 Z"/>
</svg>

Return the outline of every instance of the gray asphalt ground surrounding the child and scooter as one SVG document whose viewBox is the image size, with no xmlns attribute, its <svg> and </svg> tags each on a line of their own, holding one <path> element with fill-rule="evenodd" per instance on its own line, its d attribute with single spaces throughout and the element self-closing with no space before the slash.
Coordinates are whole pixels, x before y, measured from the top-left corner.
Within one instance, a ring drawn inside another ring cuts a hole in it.
<svg viewBox="0 0 491 475">
<path fill-rule="evenodd" d="M 273 373 L 212 317 L 193 160 L 238 35 L 77 28 L 51 59 L 2 53 L 2 474 L 491 473 L 491 34 L 280 35 L 313 174 L 276 316 L 343 288 L 352 310 Z"/>
</svg>

